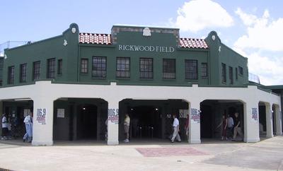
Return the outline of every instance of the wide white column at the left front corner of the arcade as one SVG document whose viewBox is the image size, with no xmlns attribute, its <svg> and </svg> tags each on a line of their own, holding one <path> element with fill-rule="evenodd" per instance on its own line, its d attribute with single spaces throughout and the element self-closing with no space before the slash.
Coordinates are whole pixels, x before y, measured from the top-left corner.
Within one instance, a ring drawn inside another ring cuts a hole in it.
<svg viewBox="0 0 283 171">
<path fill-rule="evenodd" d="M 34 146 L 53 145 L 53 102 L 44 95 L 33 99 Z"/>
</svg>

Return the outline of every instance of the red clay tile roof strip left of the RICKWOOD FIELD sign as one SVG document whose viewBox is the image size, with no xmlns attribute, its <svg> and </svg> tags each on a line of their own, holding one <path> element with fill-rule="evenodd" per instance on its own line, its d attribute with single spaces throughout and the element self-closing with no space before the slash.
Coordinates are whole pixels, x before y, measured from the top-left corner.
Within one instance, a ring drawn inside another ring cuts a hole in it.
<svg viewBox="0 0 283 171">
<path fill-rule="evenodd" d="M 98 44 L 98 45 L 111 45 L 110 34 L 96 34 L 96 33 L 80 33 L 80 43 Z"/>
</svg>

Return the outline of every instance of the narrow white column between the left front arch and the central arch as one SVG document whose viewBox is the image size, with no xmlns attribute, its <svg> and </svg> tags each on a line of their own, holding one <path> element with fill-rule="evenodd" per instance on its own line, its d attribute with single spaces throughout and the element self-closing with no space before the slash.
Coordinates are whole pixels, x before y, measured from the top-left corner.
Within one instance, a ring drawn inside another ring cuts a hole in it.
<svg viewBox="0 0 283 171">
<path fill-rule="evenodd" d="M 119 144 L 119 101 L 108 100 L 108 145 Z"/>
</svg>

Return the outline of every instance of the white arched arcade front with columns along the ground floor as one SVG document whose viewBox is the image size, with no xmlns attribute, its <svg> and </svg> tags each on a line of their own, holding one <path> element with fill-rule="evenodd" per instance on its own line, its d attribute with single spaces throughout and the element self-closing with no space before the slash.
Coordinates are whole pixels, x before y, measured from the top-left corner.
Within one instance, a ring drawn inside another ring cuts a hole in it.
<svg viewBox="0 0 283 171">
<path fill-rule="evenodd" d="M 258 90 L 256 86 L 248 88 L 211 88 L 211 87 L 174 87 L 174 86 L 108 86 L 56 84 L 50 81 L 37 81 L 35 85 L 0 88 L 0 100 L 31 98 L 36 110 L 47 109 L 47 123 L 34 122 L 33 144 L 51 145 L 53 130 L 53 101 L 57 98 L 103 98 L 108 101 L 109 109 L 117 109 L 120 100 L 125 98 L 166 100 L 183 99 L 189 102 L 190 108 L 200 109 L 203 100 L 239 100 L 246 106 L 244 111 L 246 142 L 259 141 L 258 121 L 251 117 L 251 108 L 258 108 L 258 102 L 270 102 L 280 106 L 277 95 Z M 35 118 L 34 117 L 34 118 Z M 116 116 L 119 117 L 119 116 Z M 192 121 L 191 121 L 192 123 Z M 200 123 L 190 124 L 190 143 L 200 143 Z M 108 121 L 108 144 L 118 143 L 118 125 Z"/>
</svg>

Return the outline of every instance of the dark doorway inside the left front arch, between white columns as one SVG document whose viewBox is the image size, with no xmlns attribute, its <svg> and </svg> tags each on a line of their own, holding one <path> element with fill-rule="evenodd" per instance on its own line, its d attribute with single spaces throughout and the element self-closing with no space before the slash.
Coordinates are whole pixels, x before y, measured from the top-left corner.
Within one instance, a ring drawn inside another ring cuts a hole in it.
<svg viewBox="0 0 283 171">
<path fill-rule="evenodd" d="M 97 107 L 96 105 L 80 105 L 77 118 L 77 136 L 79 139 L 96 139 Z"/>
</svg>

